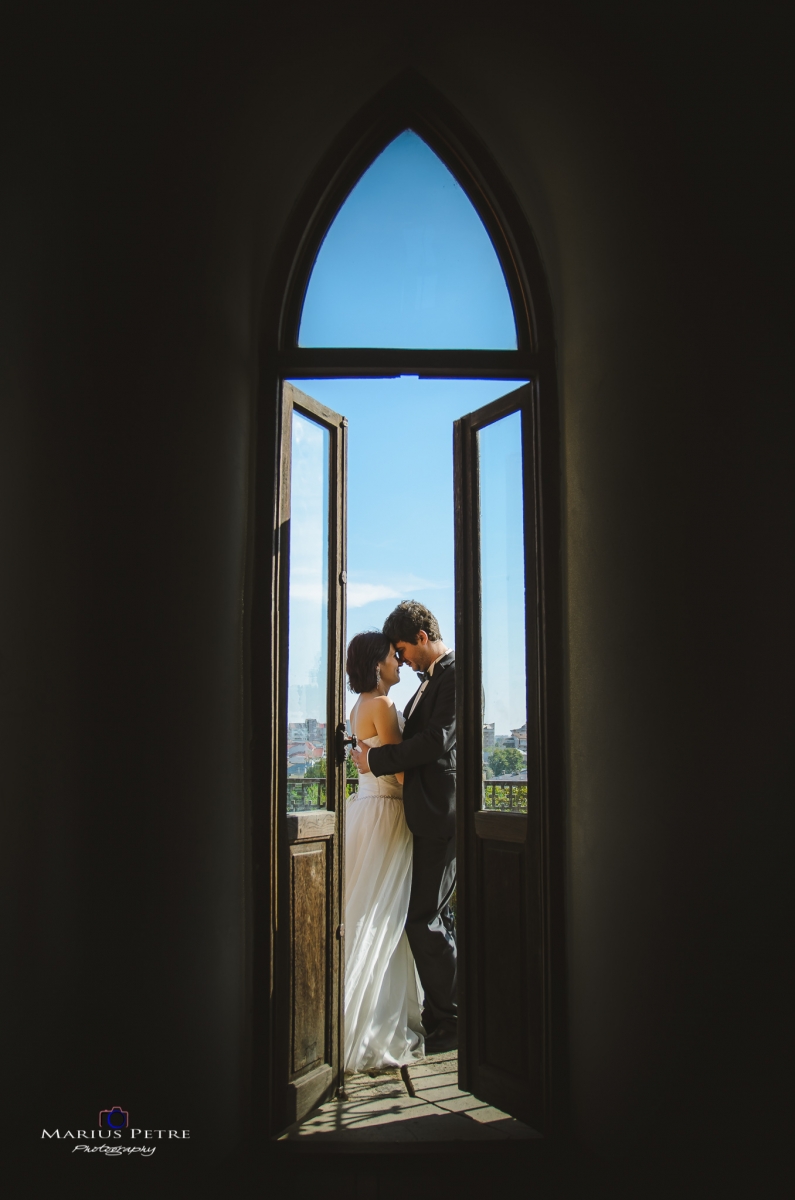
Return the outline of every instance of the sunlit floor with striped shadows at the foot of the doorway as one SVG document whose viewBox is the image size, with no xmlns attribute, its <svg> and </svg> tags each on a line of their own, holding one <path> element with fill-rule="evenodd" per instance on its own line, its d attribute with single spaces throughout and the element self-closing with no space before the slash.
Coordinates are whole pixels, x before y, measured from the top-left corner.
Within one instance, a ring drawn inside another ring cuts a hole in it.
<svg viewBox="0 0 795 1200">
<path fill-rule="evenodd" d="M 504 1141 L 537 1136 L 527 1126 L 458 1086 L 458 1054 L 410 1068 L 410 1096 L 398 1069 L 348 1075 L 345 1100 L 328 1100 L 280 1141 Z"/>
</svg>

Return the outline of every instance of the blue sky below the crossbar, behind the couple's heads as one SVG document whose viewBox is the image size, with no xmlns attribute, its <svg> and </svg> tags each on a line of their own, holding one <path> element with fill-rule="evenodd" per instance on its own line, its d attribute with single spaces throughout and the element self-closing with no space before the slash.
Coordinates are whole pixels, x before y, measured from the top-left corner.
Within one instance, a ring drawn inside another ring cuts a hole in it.
<svg viewBox="0 0 795 1200">
<path fill-rule="evenodd" d="M 348 418 L 348 640 L 361 630 L 379 629 L 400 600 L 411 599 L 428 605 L 444 643 L 455 646 L 453 421 L 520 384 L 506 379 L 405 377 L 294 382 L 299 390 Z M 494 482 L 501 482 L 503 492 L 501 451 L 508 457 L 516 455 L 515 430 L 506 433 L 507 438 L 497 437 L 497 463 L 490 473 L 498 473 Z M 492 491 L 484 486 L 484 557 L 490 558 L 492 580 L 491 588 L 484 586 L 484 616 L 492 629 L 504 632 L 504 588 L 494 587 L 494 580 L 508 580 L 508 565 L 515 568 L 521 557 L 516 553 L 521 546 L 521 511 L 501 498 L 488 504 Z M 513 588 L 512 594 L 516 596 Z M 303 617 L 303 624 L 300 640 L 309 650 L 317 635 L 306 636 L 309 614 Z M 509 710 L 496 703 L 501 690 L 508 692 L 512 658 L 515 661 L 515 619 L 510 628 L 513 647 L 489 640 L 485 664 L 486 720 L 497 720 L 498 733 L 507 733 L 510 722 L 515 726 L 525 720 L 524 697 L 514 695 Z M 300 653 L 298 646 L 295 653 Z M 502 689 L 498 678 L 506 680 Z M 404 667 L 400 684 L 391 692 L 399 708 L 416 688 L 417 677 Z M 348 698 L 348 710 L 354 700 Z"/>
</svg>

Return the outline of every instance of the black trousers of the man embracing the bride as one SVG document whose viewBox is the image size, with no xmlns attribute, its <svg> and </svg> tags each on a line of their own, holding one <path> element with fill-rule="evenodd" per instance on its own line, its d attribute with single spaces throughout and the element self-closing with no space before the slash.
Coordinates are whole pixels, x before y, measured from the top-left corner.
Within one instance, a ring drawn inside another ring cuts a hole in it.
<svg viewBox="0 0 795 1200">
<path fill-rule="evenodd" d="M 406 934 L 425 991 L 425 1018 L 458 1018 L 455 919 L 455 838 L 414 835 L 411 896 Z"/>
</svg>

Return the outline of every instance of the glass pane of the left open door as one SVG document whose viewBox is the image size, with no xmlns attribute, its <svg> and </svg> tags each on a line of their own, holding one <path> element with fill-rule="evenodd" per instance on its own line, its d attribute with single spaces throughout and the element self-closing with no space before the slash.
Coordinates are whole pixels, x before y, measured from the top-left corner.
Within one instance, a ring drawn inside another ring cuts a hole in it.
<svg viewBox="0 0 795 1200">
<path fill-rule="evenodd" d="M 327 806 L 329 432 L 293 409 L 287 811 Z"/>
</svg>

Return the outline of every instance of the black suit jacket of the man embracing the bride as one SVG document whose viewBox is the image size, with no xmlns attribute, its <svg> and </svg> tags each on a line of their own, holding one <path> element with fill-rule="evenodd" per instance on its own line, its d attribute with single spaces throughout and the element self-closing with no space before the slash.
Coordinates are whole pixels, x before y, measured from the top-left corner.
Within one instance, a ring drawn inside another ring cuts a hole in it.
<svg viewBox="0 0 795 1200">
<path fill-rule="evenodd" d="M 417 692 L 414 692 L 417 695 Z M 423 838 L 455 834 L 455 654 L 436 660 L 434 674 L 410 716 L 404 740 L 373 746 L 367 766 L 373 775 L 406 773 L 404 809 L 412 833 Z"/>
</svg>

